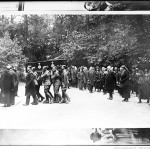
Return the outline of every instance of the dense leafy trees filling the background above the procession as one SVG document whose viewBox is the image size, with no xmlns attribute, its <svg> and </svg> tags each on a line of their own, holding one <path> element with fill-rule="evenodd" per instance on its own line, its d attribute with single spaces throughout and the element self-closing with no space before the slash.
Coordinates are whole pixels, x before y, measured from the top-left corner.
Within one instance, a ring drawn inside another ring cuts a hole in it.
<svg viewBox="0 0 150 150">
<path fill-rule="evenodd" d="M 150 68 L 149 37 L 148 15 L 1 16 L 0 65 L 24 62 L 25 55 L 29 61 Z"/>
</svg>

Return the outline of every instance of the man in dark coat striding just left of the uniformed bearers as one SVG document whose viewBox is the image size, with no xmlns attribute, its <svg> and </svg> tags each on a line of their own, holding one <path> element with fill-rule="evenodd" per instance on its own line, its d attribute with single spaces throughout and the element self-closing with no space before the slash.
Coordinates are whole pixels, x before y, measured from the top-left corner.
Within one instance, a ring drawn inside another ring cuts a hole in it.
<svg viewBox="0 0 150 150">
<path fill-rule="evenodd" d="M 30 96 L 33 97 L 33 105 L 37 105 L 37 96 L 36 96 L 36 85 L 35 85 L 35 80 L 36 76 L 32 71 L 31 67 L 28 67 L 28 73 L 26 76 L 26 86 L 25 86 L 25 95 L 26 95 L 26 104 L 24 106 L 29 105 L 30 102 Z"/>
</svg>

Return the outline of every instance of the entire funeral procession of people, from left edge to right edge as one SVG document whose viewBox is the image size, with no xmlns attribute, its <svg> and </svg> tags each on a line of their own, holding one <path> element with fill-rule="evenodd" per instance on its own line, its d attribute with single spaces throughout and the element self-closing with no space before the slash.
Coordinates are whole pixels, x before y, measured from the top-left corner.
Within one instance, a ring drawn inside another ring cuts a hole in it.
<svg viewBox="0 0 150 150">
<path fill-rule="evenodd" d="M 1 75 L 1 97 L 0 102 L 5 107 L 15 104 L 15 97 L 18 92 L 19 77 L 16 67 L 7 65 Z M 40 93 L 40 86 L 44 85 L 44 96 Z M 53 92 L 51 91 L 53 87 Z M 65 66 L 59 65 L 44 66 L 41 72 L 37 72 L 35 67 L 28 66 L 25 81 L 25 106 L 30 104 L 32 96 L 32 105 L 39 102 L 52 103 L 70 103 L 70 97 L 67 89 L 70 87 L 78 88 L 81 91 L 88 90 L 89 93 L 103 92 L 109 94 L 108 99 L 113 100 L 114 90 L 123 98 L 123 102 L 128 102 L 132 93 L 135 93 L 139 99 L 146 99 L 149 103 L 150 98 L 150 72 L 135 68 L 129 71 L 125 65 L 121 67 L 89 67 Z M 61 89 L 61 93 L 60 93 Z M 54 94 L 52 94 L 54 93 Z"/>
</svg>

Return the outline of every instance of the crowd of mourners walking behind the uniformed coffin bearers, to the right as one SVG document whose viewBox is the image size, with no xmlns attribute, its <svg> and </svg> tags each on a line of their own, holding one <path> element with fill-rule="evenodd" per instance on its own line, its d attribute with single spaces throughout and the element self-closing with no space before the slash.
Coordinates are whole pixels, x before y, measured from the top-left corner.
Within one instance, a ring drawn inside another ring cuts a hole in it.
<svg viewBox="0 0 150 150">
<path fill-rule="evenodd" d="M 109 93 L 109 100 L 113 99 L 114 90 L 117 90 L 123 98 L 123 102 L 128 102 L 131 94 L 135 93 L 138 97 L 138 103 L 146 99 L 149 103 L 150 98 L 150 72 L 145 69 L 129 69 L 122 65 L 121 67 L 90 67 L 85 66 L 77 68 L 72 66 L 68 68 L 69 85 L 78 87 L 79 90 L 88 89 L 90 93 L 94 91 L 103 94 Z"/>
</svg>

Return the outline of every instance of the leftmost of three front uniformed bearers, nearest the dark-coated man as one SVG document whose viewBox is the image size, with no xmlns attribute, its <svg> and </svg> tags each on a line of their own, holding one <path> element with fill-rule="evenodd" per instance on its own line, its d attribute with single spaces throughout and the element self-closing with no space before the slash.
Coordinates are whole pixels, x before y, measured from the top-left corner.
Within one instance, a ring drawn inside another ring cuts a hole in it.
<svg viewBox="0 0 150 150">
<path fill-rule="evenodd" d="M 50 102 L 50 104 L 51 104 L 51 103 L 53 103 L 53 95 L 50 92 L 50 87 L 52 85 L 52 82 L 51 82 L 50 72 L 47 70 L 47 66 L 43 67 L 43 72 L 42 72 L 41 78 L 43 79 L 44 93 L 45 93 L 45 97 L 46 97 L 46 100 L 44 101 L 44 103 Z M 49 101 L 49 99 L 50 99 L 50 101 Z"/>
</svg>

